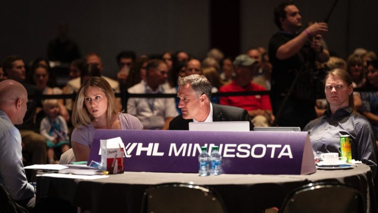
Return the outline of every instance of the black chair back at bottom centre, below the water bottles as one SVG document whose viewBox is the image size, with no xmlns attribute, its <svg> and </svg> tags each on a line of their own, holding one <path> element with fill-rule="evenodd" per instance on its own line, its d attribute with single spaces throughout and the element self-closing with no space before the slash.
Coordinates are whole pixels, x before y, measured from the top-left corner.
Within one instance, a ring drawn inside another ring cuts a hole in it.
<svg viewBox="0 0 378 213">
<path fill-rule="evenodd" d="M 146 189 L 142 213 L 226 213 L 218 194 L 204 186 L 167 183 Z"/>
</svg>

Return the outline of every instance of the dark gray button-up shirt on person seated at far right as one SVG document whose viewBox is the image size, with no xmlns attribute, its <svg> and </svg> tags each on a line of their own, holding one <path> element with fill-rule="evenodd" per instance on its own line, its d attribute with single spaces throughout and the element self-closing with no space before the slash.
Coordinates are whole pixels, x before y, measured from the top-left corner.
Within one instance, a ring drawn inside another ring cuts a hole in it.
<svg viewBox="0 0 378 213">
<path fill-rule="evenodd" d="M 377 171 L 376 139 L 369 121 L 360 114 L 352 113 L 349 106 L 328 109 L 322 117 L 310 121 L 303 131 L 308 131 L 315 157 L 321 153 L 340 151 L 340 136 L 349 135 L 352 159 L 360 160 Z"/>
</svg>

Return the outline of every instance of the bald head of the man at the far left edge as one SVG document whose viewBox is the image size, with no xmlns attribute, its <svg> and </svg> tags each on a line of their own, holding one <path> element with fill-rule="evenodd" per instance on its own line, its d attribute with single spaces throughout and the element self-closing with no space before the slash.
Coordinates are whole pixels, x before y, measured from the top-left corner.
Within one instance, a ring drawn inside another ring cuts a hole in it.
<svg viewBox="0 0 378 213">
<path fill-rule="evenodd" d="M 15 80 L 0 82 L 0 110 L 3 110 L 13 124 L 22 124 L 27 110 L 28 92 Z"/>
</svg>

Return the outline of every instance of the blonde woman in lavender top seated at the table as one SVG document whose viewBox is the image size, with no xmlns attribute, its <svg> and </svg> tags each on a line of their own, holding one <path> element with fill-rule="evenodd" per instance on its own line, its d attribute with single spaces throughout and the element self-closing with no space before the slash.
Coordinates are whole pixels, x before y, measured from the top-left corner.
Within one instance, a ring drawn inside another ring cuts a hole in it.
<svg viewBox="0 0 378 213">
<path fill-rule="evenodd" d="M 115 108 L 114 92 L 107 80 L 92 77 L 80 87 L 72 112 L 71 145 L 77 161 L 87 161 L 96 129 L 142 130 L 140 121 Z"/>
</svg>

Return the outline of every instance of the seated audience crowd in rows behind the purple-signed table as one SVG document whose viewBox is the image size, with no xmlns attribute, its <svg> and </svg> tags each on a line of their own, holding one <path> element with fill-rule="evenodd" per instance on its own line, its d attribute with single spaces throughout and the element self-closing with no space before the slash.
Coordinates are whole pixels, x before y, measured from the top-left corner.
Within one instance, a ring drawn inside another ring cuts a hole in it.
<svg viewBox="0 0 378 213">
<path fill-rule="evenodd" d="M 375 72 L 378 68 L 377 55 L 372 51 L 364 52 L 361 48 L 358 50 L 348 57 L 347 62 L 338 57 L 330 57 L 326 63 L 318 66 L 319 70 L 336 68 L 346 70 L 351 76 L 353 88 L 374 89 L 378 87 L 378 80 L 375 79 Z M 56 79 L 51 77 L 55 75 L 51 73 L 52 69 L 46 59 L 37 58 L 30 63 L 30 66 L 26 66 L 19 56 L 12 55 L 3 60 L 0 70 L 2 79 L 21 82 L 27 89 L 28 95 L 34 97 L 28 102 L 28 110 L 23 124 L 16 125 L 21 133 L 23 150 L 25 153 L 29 152 L 29 157 L 31 156 L 30 159 L 25 160 L 29 160 L 31 164 L 53 163 L 59 161 L 60 154 L 67 150 L 66 145 L 63 146 L 64 148 L 61 147 L 61 142 L 66 144 L 66 141 L 72 146 L 78 143 L 69 139 L 72 130 L 79 125 L 89 125 L 90 122 L 87 122 L 88 120 L 84 123 L 82 120 L 71 120 L 71 117 L 75 116 L 75 119 L 78 119 L 77 115 L 73 113 L 79 110 L 74 108 L 77 107 L 77 103 L 72 99 L 57 99 L 56 101 L 52 100 L 57 103 L 56 106 L 55 104 L 52 106 L 52 102 L 41 100 L 40 95 L 77 93 L 79 97 L 80 94 L 84 95 L 83 92 L 80 93 L 83 83 L 93 77 L 102 77 L 106 80 L 113 93 L 126 92 L 126 90 L 128 93 L 135 94 L 179 93 L 176 100 L 172 98 L 129 98 L 126 106 L 122 106 L 120 98 L 114 98 L 114 105 L 112 105 L 114 113 L 126 110 L 141 122 L 143 129 L 150 130 L 175 129 L 175 127 L 170 128 L 169 124 L 173 118 L 182 114 L 183 106 L 180 104 L 182 101 L 179 88 L 180 79 L 184 79 L 185 76 L 191 74 L 206 76 L 211 85 L 211 93 L 270 89 L 272 65 L 269 63 L 266 50 L 261 47 L 251 48 L 235 59 L 224 57 L 220 50 L 212 49 L 202 62 L 184 51 L 164 52 L 160 57 L 153 55 L 151 59 L 147 55 L 136 57 L 133 51 L 122 51 L 116 59 L 119 66 L 116 79 L 101 74 L 104 66 L 100 56 L 96 53 L 89 53 L 83 60 L 73 60 L 67 71 L 70 80 L 62 88 L 57 85 Z M 355 111 L 364 115 L 371 122 L 374 133 L 377 134 L 378 110 L 376 109 L 377 98 L 375 95 L 374 92 L 353 92 L 353 100 Z M 272 111 L 274 106 L 272 106 L 268 95 L 221 97 L 209 95 L 207 98 L 213 104 L 236 106 L 247 110 L 254 126 L 271 126 L 275 120 Z M 313 107 L 316 109 L 317 117 L 321 117 L 326 112 L 327 103 L 326 99 L 316 101 Z M 90 112 L 88 111 L 88 113 Z M 93 118 L 93 115 L 89 117 Z M 75 131 L 73 132 L 75 133 Z M 75 136 L 75 134 L 73 135 Z M 80 144 L 82 143 L 79 142 Z M 58 154 L 53 152 L 56 147 L 60 147 Z M 79 159 L 82 158 L 79 157 Z"/>
</svg>

